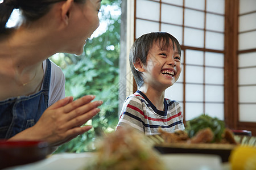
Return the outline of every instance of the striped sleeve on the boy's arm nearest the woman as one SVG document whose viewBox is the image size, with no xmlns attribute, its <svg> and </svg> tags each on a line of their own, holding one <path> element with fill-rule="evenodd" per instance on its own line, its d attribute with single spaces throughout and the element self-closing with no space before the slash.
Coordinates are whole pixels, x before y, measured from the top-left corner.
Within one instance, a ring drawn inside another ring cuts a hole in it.
<svg viewBox="0 0 256 170">
<path fill-rule="evenodd" d="M 117 129 L 119 127 L 131 126 L 144 133 L 144 116 L 141 100 L 137 97 L 129 97 L 123 103 Z"/>
</svg>

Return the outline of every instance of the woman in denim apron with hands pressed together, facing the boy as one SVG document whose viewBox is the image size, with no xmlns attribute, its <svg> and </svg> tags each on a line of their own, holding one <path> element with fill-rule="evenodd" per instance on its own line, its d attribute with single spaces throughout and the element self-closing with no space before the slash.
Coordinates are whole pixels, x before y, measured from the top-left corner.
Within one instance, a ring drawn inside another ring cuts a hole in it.
<svg viewBox="0 0 256 170">
<path fill-rule="evenodd" d="M 81 54 L 99 25 L 100 6 L 101 0 L 0 3 L 0 138 L 58 146 L 92 128 L 81 125 L 100 112 L 102 101 L 64 97 L 64 75 L 48 57 Z M 6 28 L 14 8 L 22 23 Z"/>
</svg>

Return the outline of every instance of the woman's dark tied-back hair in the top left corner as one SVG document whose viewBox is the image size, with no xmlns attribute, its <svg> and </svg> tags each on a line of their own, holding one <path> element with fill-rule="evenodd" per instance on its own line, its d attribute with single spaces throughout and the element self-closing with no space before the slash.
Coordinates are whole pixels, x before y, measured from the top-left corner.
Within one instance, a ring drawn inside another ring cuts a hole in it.
<svg viewBox="0 0 256 170">
<path fill-rule="evenodd" d="M 5 33 L 6 23 L 11 12 L 19 9 L 26 22 L 38 20 L 51 9 L 53 3 L 66 0 L 3 0 L 0 3 L 0 33 Z M 77 3 L 84 3 L 86 0 L 74 0 Z"/>
</svg>

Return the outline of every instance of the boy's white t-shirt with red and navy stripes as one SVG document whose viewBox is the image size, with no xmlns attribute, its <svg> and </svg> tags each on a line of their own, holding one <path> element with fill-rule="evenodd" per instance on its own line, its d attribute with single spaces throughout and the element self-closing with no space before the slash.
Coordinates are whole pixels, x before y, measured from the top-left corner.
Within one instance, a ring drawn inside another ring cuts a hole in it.
<svg viewBox="0 0 256 170">
<path fill-rule="evenodd" d="M 179 102 L 165 99 L 164 111 L 159 111 L 141 91 L 130 95 L 123 103 L 117 128 L 127 125 L 146 135 L 159 134 L 159 127 L 168 132 L 185 129 Z"/>
</svg>

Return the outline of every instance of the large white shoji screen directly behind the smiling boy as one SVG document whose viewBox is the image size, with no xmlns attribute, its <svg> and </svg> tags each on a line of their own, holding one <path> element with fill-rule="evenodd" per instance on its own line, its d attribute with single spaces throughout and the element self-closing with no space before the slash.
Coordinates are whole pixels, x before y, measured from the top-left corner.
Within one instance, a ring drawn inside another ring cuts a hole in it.
<svg viewBox="0 0 256 170">
<path fill-rule="evenodd" d="M 169 32 L 179 40 L 183 71 L 166 90 L 185 120 L 205 113 L 224 120 L 225 0 L 136 0 L 134 40 Z"/>
</svg>

